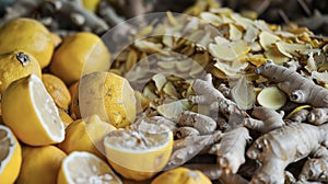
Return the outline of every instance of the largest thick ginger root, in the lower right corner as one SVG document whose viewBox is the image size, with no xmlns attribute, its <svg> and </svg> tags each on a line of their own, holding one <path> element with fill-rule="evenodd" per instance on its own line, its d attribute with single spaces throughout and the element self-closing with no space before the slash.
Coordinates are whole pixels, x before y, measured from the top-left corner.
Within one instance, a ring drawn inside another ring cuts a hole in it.
<svg viewBox="0 0 328 184">
<path fill-rule="evenodd" d="M 259 137 L 247 150 L 247 156 L 261 162 L 251 183 L 283 183 L 284 169 L 315 153 L 328 143 L 328 124 L 291 124 Z"/>
</svg>

